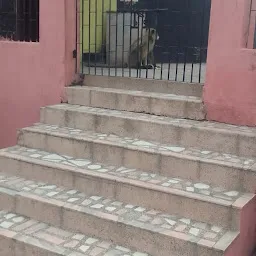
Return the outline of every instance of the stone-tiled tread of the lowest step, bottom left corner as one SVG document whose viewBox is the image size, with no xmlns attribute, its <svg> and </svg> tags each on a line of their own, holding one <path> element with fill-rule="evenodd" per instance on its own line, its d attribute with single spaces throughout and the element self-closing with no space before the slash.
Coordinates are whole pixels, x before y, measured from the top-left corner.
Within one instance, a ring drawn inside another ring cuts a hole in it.
<svg viewBox="0 0 256 256">
<path fill-rule="evenodd" d="M 36 239 L 36 244 L 41 248 L 47 251 L 57 250 L 59 254 L 56 255 L 149 256 L 146 253 L 132 251 L 95 237 L 55 228 L 46 223 L 38 222 L 11 212 L 0 211 L 0 235 L 2 235 L 1 229 L 13 232 L 13 240 L 24 239 L 27 243 L 32 243 L 33 239 Z"/>
</svg>

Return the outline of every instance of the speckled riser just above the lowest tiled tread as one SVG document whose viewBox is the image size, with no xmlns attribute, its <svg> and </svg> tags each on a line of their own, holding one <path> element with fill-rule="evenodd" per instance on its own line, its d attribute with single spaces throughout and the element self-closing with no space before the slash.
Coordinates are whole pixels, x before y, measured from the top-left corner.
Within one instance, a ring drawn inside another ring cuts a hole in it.
<svg viewBox="0 0 256 256">
<path fill-rule="evenodd" d="M 116 217 L 110 214 L 96 215 L 93 211 L 91 213 L 84 211 L 83 207 L 74 209 L 71 204 L 57 204 L 55 200 L 42 199 L 40 197 L 32 198 L 26 193 L 9 196 L 10 201 L 16 202 L 15 209 L 10 209 L 9 204 L 6 204 L 5 200 L 2 201 L 2 194 L 0 193 L 0 205 L 4 209 L 12 210 L 73 232 L 86 233 L 111 240 L 122 246 L 136 248 L 152 255 L 170 256 L 172 253 L 183 256 L 224 255 L 213 248 L 205 248 L 190 243 L 188 241 L 189 236 L 185 234 L 181 235 L 176 232 L 170 232 L 170 235 L 160 234 L 140 227 L 136 223 L 119 222 Z M 51 218 L 49 218 L 49 215 Z M 150 246 L 148 246 L 149 244 Z"/>
</svg>

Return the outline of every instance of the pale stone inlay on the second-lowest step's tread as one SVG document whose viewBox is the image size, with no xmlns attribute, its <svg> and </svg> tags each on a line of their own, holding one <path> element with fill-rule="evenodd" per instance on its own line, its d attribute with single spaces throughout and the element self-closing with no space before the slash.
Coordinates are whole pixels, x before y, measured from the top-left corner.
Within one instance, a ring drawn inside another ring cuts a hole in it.
<svg viewBox="0 0 256 256">
<path fill-rule="evenodd" d="M 120 201 L 107 199 L 101 196 L 86 196 L 77 190 L 69 190 L 56 185 L 25 180 L 16 176 L 8 176 L 0 173 L 0 186 L 17 192 L 26 192 L 42 198 L 55 199 L 75 206 L 82 206 L 98 212 L 104 212 L 118 217 L 121 222 L 140 223 L 140 227 L 147 227 L 154 232 L 175 231 L 183 233 L 191 238 L 191 241 L 199 242 L 203 239 L 208 244 L 214 245 L 228 231 L 219 226 L 203 222 L 193 221 L 181 216 L 165 214 L 156 210 L 149 210 L 140 206 L 125 204 Z M 0 187 L 0 188 L 1 188 Z M 64 205 L 65 207 L 65 205 Z M 10 219 L 13 215 L 7 215 Z M 2 220 L 0 218 L 0 220 Z M 0 224 L 5 228 L 14 227 L 15 221 L 21 222 L 22 218 L 14 218 L 13 221 L 4 219 Z M 182 237 L 182 236 L 181 236 Z"/>
</svg>

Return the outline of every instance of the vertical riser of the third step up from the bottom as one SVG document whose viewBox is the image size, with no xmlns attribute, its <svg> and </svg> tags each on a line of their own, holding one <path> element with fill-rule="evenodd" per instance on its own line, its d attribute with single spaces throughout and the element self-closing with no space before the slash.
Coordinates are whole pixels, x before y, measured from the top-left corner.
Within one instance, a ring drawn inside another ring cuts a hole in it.
<svg viewBox="0 0 256 256">
<path fill-rule="evenodd" d="M 150 185 L 142 187 L 141 184 L 136 184 L 136 181 L 131 182 L 124 178 L 110 180 L 100 176 L 93 177 L 89 174 L 81 174 L 73 167 L 63 169 L 55 166 L 54 168 L 50 165 L 33 164 L 5 157 L 0 157 L 0 163 L 6 166 L 5 172 L 12 175 L 22 175 L 25 178 L 65 186 L 90 196 L 104 195 L 127 204 L 158 209 L 225 228 L 239 228 L 240 211 L 232 209 L 231 206 L 174 195 L 150 188 Z"/>
</svg>

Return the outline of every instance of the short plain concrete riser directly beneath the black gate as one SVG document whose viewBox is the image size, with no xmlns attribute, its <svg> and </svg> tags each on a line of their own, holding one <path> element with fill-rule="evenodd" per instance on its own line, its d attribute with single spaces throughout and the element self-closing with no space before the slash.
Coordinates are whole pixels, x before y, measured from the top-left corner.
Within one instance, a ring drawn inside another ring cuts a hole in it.
<svg viewBox="0 0 256 256">
<path fill-rule="evenodd" d="M 129 77 L 106 77 L 86 75 L 84 85 L 102 88 L 115 88 L 131 91 L 159 92 L 201 97 L 203 85 L 164 80 L 139 79 Z"/>
</svg>

